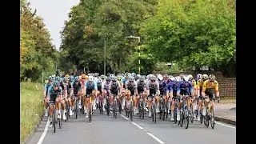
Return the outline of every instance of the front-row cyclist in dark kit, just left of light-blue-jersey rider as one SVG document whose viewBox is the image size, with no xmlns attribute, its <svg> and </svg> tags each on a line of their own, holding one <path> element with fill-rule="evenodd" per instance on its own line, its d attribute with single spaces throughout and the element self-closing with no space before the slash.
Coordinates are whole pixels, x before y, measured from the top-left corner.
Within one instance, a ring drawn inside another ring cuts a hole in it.
<svg viewBox="0 0 256 144">
<path fill-rule="evenodd" d="M 70 115 L 74 114 L 74 100 L 75 100 L 74 95 L 76 95 L 76 97 L 79 98 L 78 96 L 81 94 L 81 90 L 82 90 L 82 85 L 79 82 L 79 78 L 75 77 L 74 81 L 71 84 L 71 90 L 70 90 L 72 111 L 73 111 L 72 113 L 70 113 Z"/>
</svg>

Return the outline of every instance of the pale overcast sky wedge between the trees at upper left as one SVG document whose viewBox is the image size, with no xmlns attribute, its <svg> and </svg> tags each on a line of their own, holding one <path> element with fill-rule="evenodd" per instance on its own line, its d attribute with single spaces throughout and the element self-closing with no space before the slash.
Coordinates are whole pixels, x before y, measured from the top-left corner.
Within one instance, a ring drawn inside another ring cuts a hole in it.
<svg viewBox="0 0 256 144">
<path fill-rule="evenodd" d="M 52 43 L 59 50 L 61 44 L 60 31 L 64 27 L 64 21 L 68 19 L 68 13 L 72 6 L 79 3 L 79 0 L 28 0 L 31 8 L 37 9 L 38 16 L 43 18 L 46 28 L 50 30 Z"/>
</svg>

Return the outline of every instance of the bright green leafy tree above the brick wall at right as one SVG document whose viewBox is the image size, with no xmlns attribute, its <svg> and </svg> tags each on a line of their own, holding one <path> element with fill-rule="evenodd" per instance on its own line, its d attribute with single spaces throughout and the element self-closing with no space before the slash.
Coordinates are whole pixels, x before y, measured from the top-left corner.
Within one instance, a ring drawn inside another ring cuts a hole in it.
<svg viewBox="0 0 256 144">
<path fill-rule="evenodd" d="M 235 2 L 160 0 L 141 34 L 160 61 L 224 70 L 235 65 Z"/>
</svg>

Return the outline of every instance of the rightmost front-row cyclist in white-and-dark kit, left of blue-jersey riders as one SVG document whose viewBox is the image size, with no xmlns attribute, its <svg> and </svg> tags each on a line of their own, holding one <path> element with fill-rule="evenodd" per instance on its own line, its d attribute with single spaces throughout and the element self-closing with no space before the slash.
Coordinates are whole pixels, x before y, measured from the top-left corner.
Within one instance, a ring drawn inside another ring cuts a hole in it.
<svg viewBox="0 0 256 144">
<path fill-rule="evenodd" d="M 159 83 L 158 81 L 156 81 L 156 77 L 154 75 L 150 75 L 149 76 L 149 81 L 146 83 L 146 95 L 149 98 L 149 103 L 148 103 L 148 107 L 149 107 L 149 117 L 151 118 L 151 103 L 152 103 L 152 99 L 153 94 L 160 94 L 160 90 L 159 90 Z M 156 103 L 158 102 L 158 97 L 156 96 Z"/>
</svg>

